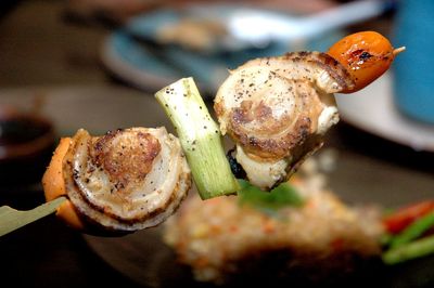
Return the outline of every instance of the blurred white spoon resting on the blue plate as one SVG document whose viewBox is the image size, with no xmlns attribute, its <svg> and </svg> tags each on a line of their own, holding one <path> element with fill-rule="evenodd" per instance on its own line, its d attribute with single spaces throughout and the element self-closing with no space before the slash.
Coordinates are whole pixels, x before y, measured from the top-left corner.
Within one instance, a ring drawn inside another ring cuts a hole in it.
<svg viewBox="0 0 434 288">
<path fill-rule="evenodd" d="M 220 49 L 234 51 L 266 47 L 271 42 L 306 41 L 324 32 L 379 16 L 390 8 L 390 1 L 359 0 L 290 19 L 276 13 L 244 9 L 227 15 L 224 23 L 229 39 L 220 43 Z"/>
</svg>

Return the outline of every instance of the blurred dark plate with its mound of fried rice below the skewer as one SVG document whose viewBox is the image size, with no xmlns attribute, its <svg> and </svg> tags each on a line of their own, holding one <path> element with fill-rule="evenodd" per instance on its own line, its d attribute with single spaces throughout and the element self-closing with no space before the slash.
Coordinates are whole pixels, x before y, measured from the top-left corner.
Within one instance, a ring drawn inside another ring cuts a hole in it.
<svg viewBox="0 0 434 288">
<path fill-rule="evenodd" d="M 330 153 L 318 154 L 293 178 L 304 205 L 292 200 L 278 209 L 276 201 L 237 196 L 204 202 L 192 191 L 162 226 L 123 238 L 85 239 L 111 266 L 145 287 L 430 287 L 432 257 L 382 262 L 387 234 L 381 217 L 432 197 L 433 181 L 352 153 L 340 153 L 335 169 L 324 173 L 320 163 Z M 392 180 L 394 174 L 401 176 Z"/>
</svg>

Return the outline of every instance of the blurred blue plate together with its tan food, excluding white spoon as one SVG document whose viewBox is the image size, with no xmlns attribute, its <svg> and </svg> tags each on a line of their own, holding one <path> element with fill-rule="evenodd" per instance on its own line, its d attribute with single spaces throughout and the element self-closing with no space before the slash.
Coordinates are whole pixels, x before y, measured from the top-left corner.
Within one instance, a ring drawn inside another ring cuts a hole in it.
<svg viewBox="0 0 434 288">
<path fill-rule="evenodd" d="M 302 15 L 231 4 L 197 4 L 181 10 L 159 9 L 141 14 L 104 41 L 101 58 L 119 79 L 146 91 L 156 91 L 177 79 L 192 76 L 204 96 L 214 94 L 228 69 L 247 60 L 283 54 L 291 50 L 323 51 L 343 32 L 331 30 L 294 43 L 273 42 L 232 52 L 209 52 L 222 34 L 228 15 L 253 11 L 292 23 Z"/>
</svg>

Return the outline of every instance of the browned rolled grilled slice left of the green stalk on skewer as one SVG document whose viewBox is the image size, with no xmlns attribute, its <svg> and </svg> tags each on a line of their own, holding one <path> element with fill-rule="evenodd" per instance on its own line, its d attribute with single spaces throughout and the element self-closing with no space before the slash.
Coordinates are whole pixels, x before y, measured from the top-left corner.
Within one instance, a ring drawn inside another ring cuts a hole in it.
<svg viewBox="0 0 434 288">
<path fill-rule="evenodd" d="M 180 143 L 165 128 L 131 128 L 103 136 L 80 129 L 63 158 L 63 178 L 78 214 L 117 232 L 159 224 L 191 186 Z"/>
</svg>

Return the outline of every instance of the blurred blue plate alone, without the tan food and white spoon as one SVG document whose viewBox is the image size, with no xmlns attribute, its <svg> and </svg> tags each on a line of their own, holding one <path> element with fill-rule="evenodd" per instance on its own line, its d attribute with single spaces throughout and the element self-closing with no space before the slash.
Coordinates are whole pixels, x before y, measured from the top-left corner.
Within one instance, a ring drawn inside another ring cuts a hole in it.
<svg viewBox="0 0 434 288">
<path fill-rule="evenodd" d="M 173 44 L 162 45 L 152 40 L 155 39 L 158 27 L 179 22 L 186 15 L 206 13 L 202 16 L 224 17 L 228 15 L 228 12 L 243 9 L 246 8 L 194 5 L 182 11 L 163 9 L 141 14 L 107 37 L 103 44 L 102 61 L 115 76 L 149 92 L 156 92 L 180 78 L 193 77 L 204 95 L 213 95 L 228 77 L 228 69 L 237 68 L 251 58 L 277 56 L 295 50 L 326 51 L 343 36 L 340 31 L 332 31 L 303 43 L 275 42 L 264 49 L 252 48 L 214 54 L 193 52 Z M 252 10 L 252 8 L 248 9 Z M 269 10 L 258 11 L 270 13 Z M 282 16 L 282 12 L 272 13 Z M 301 17 L 299 15 L 283 15 L 289 21 Z"/>
</svg>

